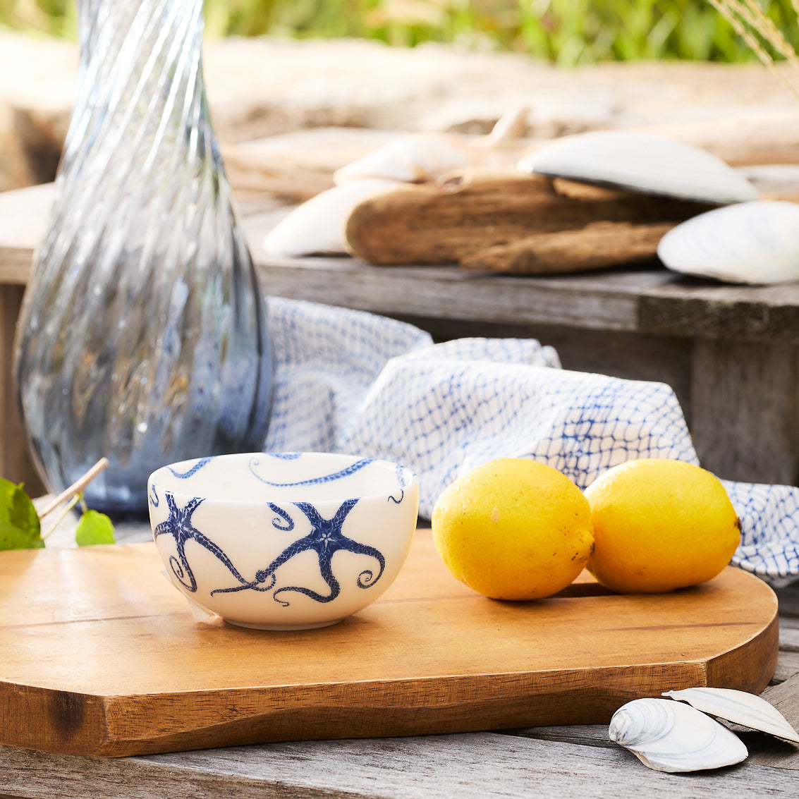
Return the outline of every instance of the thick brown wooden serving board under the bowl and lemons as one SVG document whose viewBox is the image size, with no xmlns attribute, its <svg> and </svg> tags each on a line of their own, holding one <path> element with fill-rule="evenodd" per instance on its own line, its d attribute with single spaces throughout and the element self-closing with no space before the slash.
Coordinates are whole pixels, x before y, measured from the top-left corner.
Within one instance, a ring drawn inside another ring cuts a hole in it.
<svg viewBox="0 0 799 799">
<path fill-rule="evenodd" d="M 759 692 L 777 637 L 777 598 L 741 570 L 497 602 L 451 578 L 429 531 L 372 606 L 302 632 L 196 622 L 150 543 L 2 552 L 0 743 L 116 757 L 602 723 L 669 689 Z"/>
</svg>

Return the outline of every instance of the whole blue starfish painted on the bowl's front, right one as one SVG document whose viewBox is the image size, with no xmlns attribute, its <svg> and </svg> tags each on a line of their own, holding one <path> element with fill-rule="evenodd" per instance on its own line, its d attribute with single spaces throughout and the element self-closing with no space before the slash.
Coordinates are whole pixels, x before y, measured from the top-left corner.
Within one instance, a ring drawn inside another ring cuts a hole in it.
<svg viewBox="0 0 799 799">
<path fill-rule="evenodd" d="M 256 571 L 255 579 L 252 580 L 252 582 L 246 582 L 244 585 L 233 586 L 232 588 L 218 588 L 211 593 L 225 594 L 246 589 L 270 591 L 277 582 L 276 570 L 286 561 L 306 550 L 315 551 L 316 555 L 319 557 L 320 573 L 322 578 L 324 578 L 324 582 L 327 582 L 328 586 L 330 586 L 330 594 L 320 594 L 315 590 L 303 588 L 302 586 L 284 586 L 283 588 L 277 589 L 275 593 L 272 594 L 272 598 L 276 602 L 280 602 L 281 605 L 288 606 L 288 602 L 278 599 L 278 594 L 282 594 L 284 591 L 298 591 L 300 594 L 305 594 L 305 596 L 315 599 L 316 602 L 332 602 L 341 591 L 340 583 L 333 576 L 332 567 L 330 565 L 332 556 L 339 550 L 354 552 L 356 555 L 369 555 L 380 563 L 380 571 L 377 573 L 377 576 L 375 576 L 372 570 L 368 569 L 364 569 L 364 571 L 358 575 L 359 588 L 373 586 L 382 576 L 386 566 L 383 555 L 380 551 L 376 550 L 375 547 L 369 547 L 367 544 L 361 544 L 352 539 L 348 539 L 347 536 L 341 532 L 344 519 L 347 518 L 348 513 L 352 511 L 352 507 L 357 501 L 357 499 L 346 500 L 341 504 L 341 507 L 336 511 L 336 515 L 334 515 L 332 519 L 323 519 L 319 511 L 310 503 L 294 503 L 312 524 L 311 532 L 304 538 L 298 539 L 290 546 L 286 547 L 265 569 Z M 275 507 L 272 509 L 277 510 Z M 280 527 L 280 529 L 289 528 Z"/>
</svg>

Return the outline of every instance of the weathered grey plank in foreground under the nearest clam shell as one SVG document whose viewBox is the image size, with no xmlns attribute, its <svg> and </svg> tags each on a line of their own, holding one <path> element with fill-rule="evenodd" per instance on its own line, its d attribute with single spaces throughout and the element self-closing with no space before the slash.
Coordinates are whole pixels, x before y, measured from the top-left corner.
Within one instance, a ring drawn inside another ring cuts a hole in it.
<svg viewBox="0 0 799 799">
<path fill-rule="evenodd" d="M 268 774 L 309 788 L 341 788 L 386 797 L 586 797 L 629 796 L 631 789 L 658 797 L 721 796 L 758 790 L 761 796 L 795 796 L 799 775 L 785 777 L 757 765 L 684 776 L 646 769 L 625 750 L 536 741 L 495 733 L 391 738 L 322 744 L 284 744 L 189 753 L 182 765 L 228 770 L 235 779 Z M 163 763 L 174 763 L 173 756 Z M 301 764 L 302 773 L 297 765 Z"/>
</svg>

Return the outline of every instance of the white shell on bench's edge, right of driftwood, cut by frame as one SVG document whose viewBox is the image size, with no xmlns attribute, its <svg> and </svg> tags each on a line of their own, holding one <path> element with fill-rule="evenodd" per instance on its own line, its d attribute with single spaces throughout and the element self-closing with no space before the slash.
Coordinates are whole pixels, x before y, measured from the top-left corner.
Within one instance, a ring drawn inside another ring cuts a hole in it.
<svg viewBox="0 0 799 799">
<path fill-rule="evenodd" d="M 799 205 L 759 200 L 702 213 L 666 233 L 658 257 L 675 272 L 729 283 L 799 280 Z"/>
</svg>

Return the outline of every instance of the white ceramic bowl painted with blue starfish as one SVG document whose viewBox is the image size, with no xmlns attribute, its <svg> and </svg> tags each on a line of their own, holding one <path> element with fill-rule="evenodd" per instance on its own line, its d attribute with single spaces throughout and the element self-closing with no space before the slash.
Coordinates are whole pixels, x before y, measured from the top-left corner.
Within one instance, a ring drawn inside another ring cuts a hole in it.
<svg viewBox="0 0 799 799">
<path fill-rule="evenodd" d="M 149 478 L 153 537 L 191 602 L 231 624 L 305 630 L 374 602 L 405 562 L 419 481 L 384 460 L 217 455 Z"/>
</svg>

